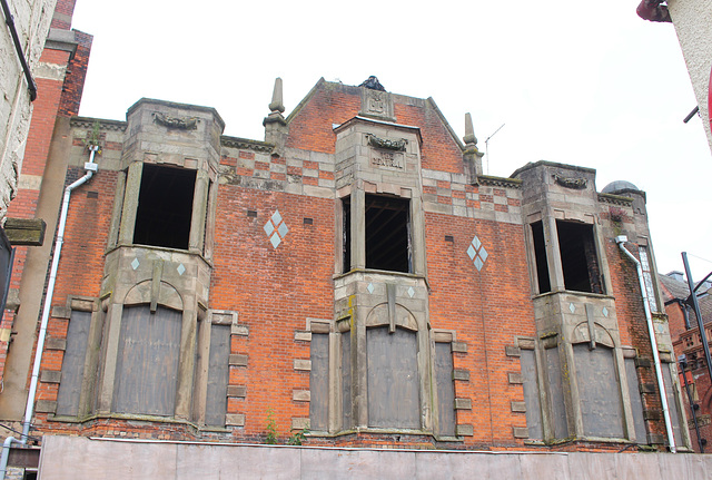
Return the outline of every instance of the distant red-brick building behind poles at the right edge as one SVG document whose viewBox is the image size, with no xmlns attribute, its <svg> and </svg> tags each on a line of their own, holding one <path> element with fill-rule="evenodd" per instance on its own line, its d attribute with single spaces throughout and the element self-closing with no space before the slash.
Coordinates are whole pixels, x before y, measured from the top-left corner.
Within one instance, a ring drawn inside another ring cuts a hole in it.
<svg viewBox="0 0 712 480">
<path fill-rule="evenodd" d="M 696 420 L 700 438 L 704 439 L 704 451 L 709 452 L 712 445 L 708 442 L 712 439 L 712 383 L 704 356 L 702 336 L 698 325 L 698 317 L 694 308 L 690 304 L 690 287 L 681 272 L 671 272 L 660 276 L 663 287 L 663 298 L 665 311 L 670 321 L 670 334 L 673 346 L 678 355 L 684 355 L 685 376 L 690 395 L 685 391 L 685 379 L 680 378 L 683 391 L 683 400 L 688 409 L 688 427 L 692 439 L 692 447 L 700 451 L 694 424 L 694 415 L 690 410 L 690 399 L 692 404 L 698 404 Z M 698 304 L 704 324 L 708 341 L 712 340 L 712 296 L 710 288 L 712 284 L 708 281 L 696 291 Z"/>
</svg>

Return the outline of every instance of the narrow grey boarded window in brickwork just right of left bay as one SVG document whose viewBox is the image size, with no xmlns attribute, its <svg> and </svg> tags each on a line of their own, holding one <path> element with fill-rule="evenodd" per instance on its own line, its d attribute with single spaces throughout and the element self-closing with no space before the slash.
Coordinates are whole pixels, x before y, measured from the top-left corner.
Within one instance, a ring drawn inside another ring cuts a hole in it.
<svg viewBox="0 0 712 480">
<path fill-rule="evenodd" d="M 230 357 L 230 325 L 210 325 L 210 356 L 208 359 L 208 395 L 205 422 L 225 425 L 227 413 L 228 363 Z"/>
</svg>

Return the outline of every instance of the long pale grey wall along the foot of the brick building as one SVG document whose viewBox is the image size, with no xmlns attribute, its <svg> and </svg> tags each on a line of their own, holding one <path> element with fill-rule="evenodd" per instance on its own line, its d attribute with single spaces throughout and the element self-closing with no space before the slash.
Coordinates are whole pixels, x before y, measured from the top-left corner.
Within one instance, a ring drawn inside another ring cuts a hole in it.
<svg viewBox="0 0 712 480">
<path fill-rule="evenodd" d="M 491 453 L 44 437 L 40 479 L 708 479 L 712 455 Z"/>
</svg>

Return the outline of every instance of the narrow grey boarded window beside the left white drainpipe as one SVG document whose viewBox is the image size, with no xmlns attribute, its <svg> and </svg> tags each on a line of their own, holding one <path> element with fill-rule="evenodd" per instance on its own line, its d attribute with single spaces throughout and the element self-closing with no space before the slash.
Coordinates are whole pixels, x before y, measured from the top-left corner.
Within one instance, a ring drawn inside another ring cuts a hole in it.
<svg viewBox="0 0 712 480">
<path fill-rule="evenodd" d="M 67 332 L 67 350 L 62 360 L 62 376 L 57 395 L 57 414 L 77 417 L 79 396 L 85 376 L 87 342 L 91 325 L 91 312 L 72 311 Z"/>
</svg>

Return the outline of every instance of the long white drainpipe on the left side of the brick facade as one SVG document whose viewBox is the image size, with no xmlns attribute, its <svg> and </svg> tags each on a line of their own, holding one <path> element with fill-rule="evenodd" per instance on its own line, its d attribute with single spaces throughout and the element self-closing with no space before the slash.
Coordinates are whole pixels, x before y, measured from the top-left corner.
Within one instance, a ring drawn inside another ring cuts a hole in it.
<svg viewBox="0 0 712 480">
<path fill-rule="evenodd" d="M 52 266 L 49 273 L 49 283 L 47 284 L 47 295 L 44 296 L 44 306 L 42 310 L 42 320 L 40 321 L 40 334 L 37 339 L 37 349 L 34 351 L 34 363 L 32 365 L 32 379 L 30 380 L 30 391 L 27 395 L 27 406 L 24 408 L 24 420 L 22 421 L 22 437 L 20 440 L 14 437 L 8 437 L 2 443 L 2 457 L 0 457 L 0 480 L 4 480 L 8 469 L 8 458 L 10 457 L 10 445 L 12 442 L 26 444 L 30 434 L 30 423 L 34 413 L 34 394 L 37 393 L 37 383 L 40 375 L 40 365 L 42 363 L 42 353 L 44 351 L 44 339 L 47 337 L 47 324 L 49 323 L 49 312 L 52 305 L 52 296 L 55 295 L 55 283 L 57 281 L 57 270 L 59 268 L 59 257 L 62 253 L 62 244 L 65 243 L 65 227 L 67 226 L 67 213 L 69 212 L 69 198 L 71 192 L 80 185 L 86 184 L 97 172 L 97 164 L 93 157 L 99 150 L 99 146 L 89 147 L 89 161 L 85 163 L 87 174 L 73 184 L 65 188 L 65 198 L 62 200 L 62 209 L 59 214 L 59 225 L 57 226 L 57 242 L 55 243 L 55 253 L 52 255 Z"/>
</svg>

